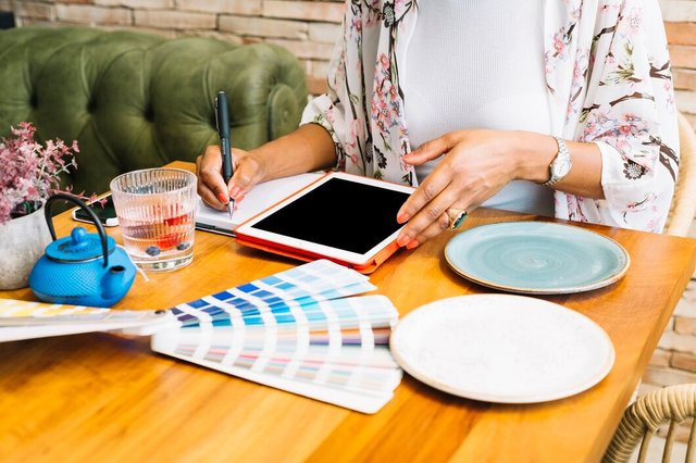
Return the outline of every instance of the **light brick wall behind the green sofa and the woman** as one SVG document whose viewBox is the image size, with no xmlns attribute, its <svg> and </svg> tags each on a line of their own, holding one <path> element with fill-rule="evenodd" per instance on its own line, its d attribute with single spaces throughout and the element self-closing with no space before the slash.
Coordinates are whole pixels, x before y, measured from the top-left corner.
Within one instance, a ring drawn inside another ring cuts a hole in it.
<svg viewBox="0 0 696 463">
<path fill-rule="evenodd" d="M 312 93 L 325 89 L 343 0 L 0 0 L 17 24 L 136 28 L 169 37 L 198 35 L 237 43 L 269 41 L 304 64 Z M 696 126 L 696 0 L 660 0 L 676 101 Z M 696 233 L 694 234 L 696 236 Z M 626 321 L 630 323 L 630 321 Z M 644 389 L 696 381 L 696 281 L 687 289 L 645 375 Z"/>
</svg>

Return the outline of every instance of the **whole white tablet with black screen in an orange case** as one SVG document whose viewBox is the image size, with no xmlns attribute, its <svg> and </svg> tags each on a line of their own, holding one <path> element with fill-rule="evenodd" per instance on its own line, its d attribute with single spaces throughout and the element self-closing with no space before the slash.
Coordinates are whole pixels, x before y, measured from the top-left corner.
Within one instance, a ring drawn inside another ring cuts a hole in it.
<svg viewBox="0 0 696 463">
<path fill-rule="evenodd" d="M 414 188 L 332 172 L 237 227 L 244 245 L 371 272 L 398 246 L 396 215 Z"/>
</svg>

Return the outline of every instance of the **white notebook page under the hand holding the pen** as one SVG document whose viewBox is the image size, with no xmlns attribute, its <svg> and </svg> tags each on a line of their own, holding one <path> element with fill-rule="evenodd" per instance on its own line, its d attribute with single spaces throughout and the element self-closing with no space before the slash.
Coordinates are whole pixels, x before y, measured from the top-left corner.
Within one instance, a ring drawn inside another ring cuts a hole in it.
<svg viewBox="0 0 696 463">
<path fill-rule="evenodd" d="M 229 213 L 209 207 L 200 197 L 196 213 L 196 228 L 221 235 L 235 236 L 235 228 L 271 205 L 318 180 L 323 173 L 300 174 L 277 178 L 254 186 L 245 198 L 236 204 L 235 212 Z"/>
</svg>

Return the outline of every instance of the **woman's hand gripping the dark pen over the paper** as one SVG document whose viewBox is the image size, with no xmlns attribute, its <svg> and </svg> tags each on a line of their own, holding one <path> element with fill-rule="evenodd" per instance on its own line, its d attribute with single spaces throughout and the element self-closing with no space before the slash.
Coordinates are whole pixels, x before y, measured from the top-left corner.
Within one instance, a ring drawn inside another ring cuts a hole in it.
<svg viewBox="0 0 696 463">
<path fill-rule="evenodd" d="M 240 201 L 265 176 L 264 163 L 253 151 L 233 149 L 234 175 L 225 185 L 222 177 L 222 154 L 219 145 L 211 145 L 196 159 L 198 195 L 206 204 L 225 210 L 229 199 Z"/>
</svg>

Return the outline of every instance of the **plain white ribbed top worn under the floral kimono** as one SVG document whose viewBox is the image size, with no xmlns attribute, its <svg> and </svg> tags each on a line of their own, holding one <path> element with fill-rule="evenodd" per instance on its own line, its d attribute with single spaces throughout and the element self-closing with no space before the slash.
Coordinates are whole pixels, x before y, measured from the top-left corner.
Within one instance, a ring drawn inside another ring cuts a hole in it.
<svg viewBox="0 0 696 463">
<path fill-rule="evenodd" d="M 550 134 L 543 12 L 544 0 L 419 3 L 401 76 L 412 149 L 467 128 Z M 419 183 L 438 161 L 415 167 Z M 483 205 L 552 216 L 554 195 L 512 182 Z"/>
</svg>

